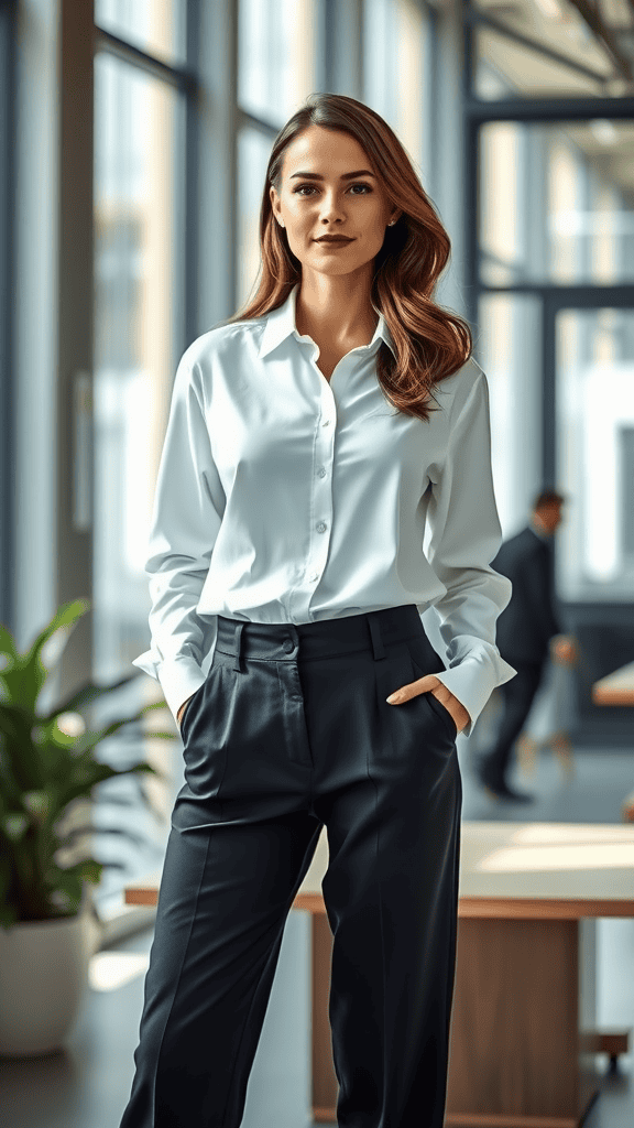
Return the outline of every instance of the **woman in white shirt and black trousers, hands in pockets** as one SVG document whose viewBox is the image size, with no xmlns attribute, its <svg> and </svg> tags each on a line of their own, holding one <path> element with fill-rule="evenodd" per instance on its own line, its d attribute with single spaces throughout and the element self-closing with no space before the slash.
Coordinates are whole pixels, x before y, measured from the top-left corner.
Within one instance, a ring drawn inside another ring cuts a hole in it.
<svg viewBox="0 0 634 1128">
<path fill-rule="evenodd" d="M 317 95 L 291 117 L 261 243 L 250 306 L 178 365 L 157 479 L 133 664 L 182 726 L 186 783 L 121 1128 L 238 1128 L 323 826 L 338 1122 L 441 1128 L 456 735 L 514 672 L 486 378 L 432 300 L 448 237 L 368 106 Z"/>
</svg>

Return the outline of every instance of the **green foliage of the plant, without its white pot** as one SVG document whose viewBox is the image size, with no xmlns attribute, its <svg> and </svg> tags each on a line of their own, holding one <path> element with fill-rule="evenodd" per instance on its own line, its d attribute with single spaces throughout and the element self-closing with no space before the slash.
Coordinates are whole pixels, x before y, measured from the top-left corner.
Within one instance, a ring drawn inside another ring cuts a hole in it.
<svg viewBox="0 0 634 1128">
<path fill-rule="evenodd" d="M 58 830 L 65 826 L 64 817 L 74 800 L 93 802 L 95 787 L 117 776 L 171 779 L 169 772 L 146 761 L 113 768 L 97 758 L 98 746 L 124 725 L 133 740 L 176 740 L 176 730 L 148 732 L 143 724 L 151 710 L 168 711 L 165 700 L 150 702 L 132 715 L 95 730 L 89 730 L 81 712 L 141 677 L 141 671 L 107 685 L 87 680 L 47 714 L 37 712 L 49 670 L 89 607 L 86 599 L 62 605 L 25 654 L 18 651 L 9 631 L 0 626 L 0 925 L 5 928 L 19 919 L 71 916 L 79 909 L 83 883 L 98 882 L 104 869 L 115 865 L 89 857 L 64 870 L 55 862 L 58 851 L 63 853 L 64 845 L 79 838 L 79 828 L 72 828 L 65 838 Z M 63 714 L 76 714 L 74 722 Z M 130 725 L 141 726 L 141 732 L 130 730 Z M 138 790 L 153 810 L 151 796 L 140 783 Z M 160 817 L 165 818 L 162 810 Z M 90 823 L 87 829 L 146 841 L 127 826 L 104 828 Z"/>
</svg>

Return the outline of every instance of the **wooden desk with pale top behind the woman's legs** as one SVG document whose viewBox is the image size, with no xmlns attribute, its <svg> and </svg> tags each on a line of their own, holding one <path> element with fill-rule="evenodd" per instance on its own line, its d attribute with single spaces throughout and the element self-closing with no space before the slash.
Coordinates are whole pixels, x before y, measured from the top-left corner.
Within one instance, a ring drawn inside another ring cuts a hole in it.
<svg viewBox="0 0 634 1128">
<path fill-rule="evenodd" d="M 336 1123 L 327 863 L 324 829 L 293 909 L 312 917 L 314 1119 Z M 579 1128 L 600 1081 L 596 918 L 634 916 L 634 827 L 463 822 L 460 866 L 446 1126 Z"/>
</svg>

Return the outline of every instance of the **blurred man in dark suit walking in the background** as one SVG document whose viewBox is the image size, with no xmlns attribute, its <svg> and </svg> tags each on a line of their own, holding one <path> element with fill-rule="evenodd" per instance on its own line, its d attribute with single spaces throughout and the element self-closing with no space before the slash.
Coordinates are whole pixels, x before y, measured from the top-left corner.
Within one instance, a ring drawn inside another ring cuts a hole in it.
<svg viewBox="0 0 634 1128">
<path fill-rule="evenodd" d="M 492 567 L 513 585 L 510 602 L 497 618 L 496 644 L 502 658 L 518 671 L 499 687 L 503 714 L 493 748 L 481 757 L 476 773 L 495 799 L 530 802 L 532 795 L 513 791 L 507 770 L 513 744 L 530 712 L 541 681 L 551 640 L 557 658 L 572 661 L 574 643 L 562 636 L 555 609 L 553 536 L 562 520 L 564 497 L 543 490 L 534 501 L 530 522 L 505 540 Z"/>
</svg>

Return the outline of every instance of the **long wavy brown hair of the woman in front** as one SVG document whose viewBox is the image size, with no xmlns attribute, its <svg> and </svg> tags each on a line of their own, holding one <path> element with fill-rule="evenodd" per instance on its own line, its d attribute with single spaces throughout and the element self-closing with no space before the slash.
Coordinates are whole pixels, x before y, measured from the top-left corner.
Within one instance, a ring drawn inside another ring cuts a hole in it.
<svg viewBox="0 0 634 1128">
<path fill-rule="evenodd" d="M 275 222 L 270 186 L 280 193 L 284 150 L 310 125 L 341 130 L 355 138 L 388 202 L 402 212 L 394 227 L 387 228 L 375 259 L 371 300 L 385 317 L 397 354 L 395 358 L 388 345 L 381 343 L 377 376 L 386 397 L 398 411 L 426 421 L 433 386 L 452 376 L 469 359 L 472 333 L 461 317 L 432 300 L 451 250 L 434 205 L 390 126 L 355 98 L 312 94 L 278 133 L 259 212 L 259 288 L 246 307 L 222 324 L 262 317 L 276 309 L 301 281 L 301 263 L 289 248 L 285 228 Z"/>
</svg>

